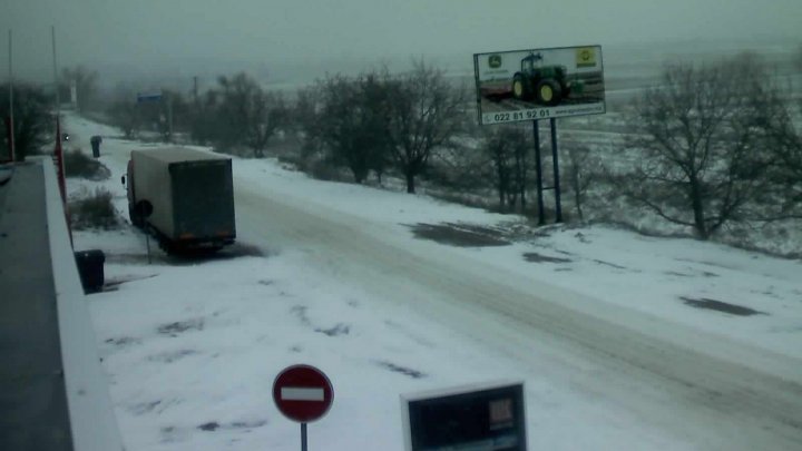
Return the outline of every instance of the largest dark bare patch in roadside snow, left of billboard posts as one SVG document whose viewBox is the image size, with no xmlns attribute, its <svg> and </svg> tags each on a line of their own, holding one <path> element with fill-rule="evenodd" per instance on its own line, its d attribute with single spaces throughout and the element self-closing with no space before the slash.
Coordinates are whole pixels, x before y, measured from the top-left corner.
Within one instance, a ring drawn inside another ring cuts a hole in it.
<svg viewBox="0 0 802 451">
<path fill-rule="evenodd" d="M 415 224 L 410 226 L 417 238 L 458 247 L 508 246 L 502 231 L 476 224 Z"/>
</svg>

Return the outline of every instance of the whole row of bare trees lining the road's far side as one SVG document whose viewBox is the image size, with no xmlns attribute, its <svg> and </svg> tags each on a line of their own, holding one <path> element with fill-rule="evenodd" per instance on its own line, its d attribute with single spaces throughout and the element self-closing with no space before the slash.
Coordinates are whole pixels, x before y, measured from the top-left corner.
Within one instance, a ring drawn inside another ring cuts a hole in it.
<svg viewBox="0 0 802 451">
<path fill-rule="evenodd" d="M 599 217 L 595 210 L 604 205 L 589 199 L 603 192 L 597 200 L 625 200 L 702 239 L 732 223 L 802 217 L 802 105 L 791 92 L 752 55 L 667 66 L 626 111 L 629 133 L 620 148 L 561 135 L 568 200 L 580 219 Z M 475 111 L 466 89 L 423 62 L 402 75 L 326 76 L 292 102 L 239 73 L 182 102 L 193 139 L 223 151 L 263 157 L 276 134 L 293 134 L 302 158 L 345 168 L 355 183 L 392 173 L 414 193 L 426 174 L 462 194 L 495 193 L 502 210 L 527 210 L 530 130 L 469 126 Z"/>
</svg>

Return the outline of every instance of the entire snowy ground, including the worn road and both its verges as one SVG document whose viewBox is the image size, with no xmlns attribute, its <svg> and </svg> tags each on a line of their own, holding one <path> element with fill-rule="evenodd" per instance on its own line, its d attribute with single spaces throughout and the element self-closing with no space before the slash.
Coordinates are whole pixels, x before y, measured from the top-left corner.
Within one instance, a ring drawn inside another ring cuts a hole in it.
<svg viewBox="0 0 802 451">
<path fill-rule="evenodd" d="M 108 137 L 104 184 L 125 212 L 118 176 L 130 149 L 153 145 L 70 126 L 77 141 Z M 109 276 L 124 281 L 91 305 L 130 449 L 294 449 L 295 429 L 262 389 L 299 361 L 336 380 L 336 406 L 315 425 L 333 450 L 400 449 L 399 393 L 493 378 L 526 381 L 530 449 L 802 448 L 796 262 L 593 228 L 458 248 L 402 224 L 509 217 L 313 180 L 277 161 L 234 169 L 238 242 L 263 258 L 149 266 L 131 231 L 79 238 L 106 249 Z M 521 258 L 532 252 L 567 263 Z M 681 296 L 761 314 L 703 312 Z M 203 326 L 159 333 L 185 323 Z M 217 432 L 198 429 L 211 421 Z"/>
</svg>

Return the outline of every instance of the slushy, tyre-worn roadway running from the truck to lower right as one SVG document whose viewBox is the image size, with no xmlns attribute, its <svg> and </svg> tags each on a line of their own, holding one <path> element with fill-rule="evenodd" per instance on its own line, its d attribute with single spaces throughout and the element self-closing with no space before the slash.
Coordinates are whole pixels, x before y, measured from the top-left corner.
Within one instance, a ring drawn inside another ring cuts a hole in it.
<svg viewBox="0 0 802 451">
<path fill-rule="evenodd" d="M 802 448 L 796 360 L 538 284 L 463 249 L 410 245 L 385 224 L 307 198 L 243 182 L 236 193 L 242 242 L 301 249 L 317 271 L 442 323 L 531 374 L 567 381 L 701 449 Z"/>
</svg>

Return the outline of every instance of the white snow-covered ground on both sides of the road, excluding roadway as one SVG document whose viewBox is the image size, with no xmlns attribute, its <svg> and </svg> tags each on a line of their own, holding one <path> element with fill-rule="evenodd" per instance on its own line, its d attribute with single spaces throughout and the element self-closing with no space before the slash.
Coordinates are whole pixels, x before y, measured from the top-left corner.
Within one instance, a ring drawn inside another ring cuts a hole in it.
<svg viewBox="0 0 802 451">
<path fill-rule="evenodd" d="M 104 136 L 100 160 L 113 174 L 99 183 L 69 179 L 69 192 L 107 187 L 127 219 L 119 177 L 130 149 L 146 145 L 78 117 L 66 122 L 72 146 L 87 154 L 89 137 Z M 802 359 L 799 261 L 596 226 L 453 248 L 417 238 L 410 226 L 519 231 L 524 224 L 426 196 L 314 180 L 272 159 L 235 159 L 234 170 L 239 190 L 276 193 L 287 204 L 360 218 L 388 242 L 432 256 L 458 253 L 466 265 L 482 262 L 590 296 L 595 308 L 624 307 Z M 274 378 L 295 363 L 322 369 L 334 385 L 330 413 L 310 425 L 310 449 L 401 450 L 401 394 L 499 379 L 526 382 L 529 449 L 705 448 L 569 380 L 555 383 L 517 365 L 422 312 L 381 302 L 336 268 L 310 265 L 301 248 L 244 242 L 238 252 L 203 262 L 155 251 L 148 264 L 145 238 L 127 223 L 118 231 L 77 232 L 75 248 L 107 255 L 109 290 L 87 302 L 129 450 L 297 449 L 297 425 L 271 398 Z M 691 305 L 710 301 L 757 313 Z"/>
</svg>

